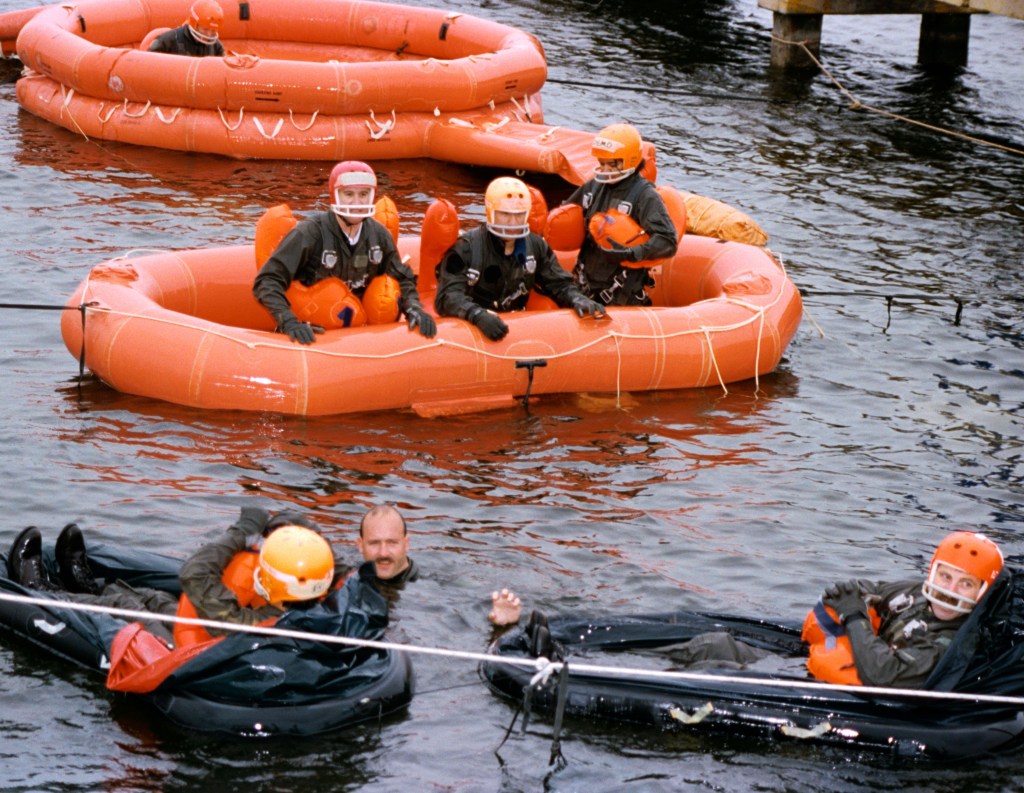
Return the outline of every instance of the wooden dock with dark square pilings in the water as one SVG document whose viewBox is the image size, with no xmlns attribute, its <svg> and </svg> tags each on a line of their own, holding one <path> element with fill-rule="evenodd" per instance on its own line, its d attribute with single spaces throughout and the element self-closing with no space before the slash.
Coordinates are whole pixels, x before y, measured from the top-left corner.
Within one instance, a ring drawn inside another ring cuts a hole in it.
<svg viewBox="0 0 1024 793">
<path fill-rule="evenodd" d="M 1024 19 L 1024 0 L 758 0 L 758 5 L 772 11 L 771 64 L 784 69 L 815 66 L 807 53 L 818 57 L 826 14 L 921 14 L 922 66 L 967 66 L 975 13 Z"/>
</svg>

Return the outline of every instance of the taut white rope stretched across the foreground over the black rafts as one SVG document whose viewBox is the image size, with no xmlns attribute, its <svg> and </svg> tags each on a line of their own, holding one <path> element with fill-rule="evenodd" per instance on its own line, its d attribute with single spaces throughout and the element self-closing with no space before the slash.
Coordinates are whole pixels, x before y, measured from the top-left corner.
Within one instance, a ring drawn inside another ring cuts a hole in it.
<svg viewBox="0 0 1024 793">
<path fill-rule="evenodd" d="M 817 680 L 793 680 L 779 679 L 777 677 L 737 677 L 727 674 L 710 674 L 707 672 L 668 672 L 656 669 L 636 669 L 622 666 L 602 666 L 600 664 L 586 664 L 572 661 L 569 664 L 560 661 L 550 661 L 547 658 L 510 658 L 507 656 L 497 656 L 490 653 L 475 653 L 466 650 L 450 650 L 446 648 L 428 648 L 418 644 L 402 644 L 395 641 L 377 641 L 375 639 L 358 639 L 348 636 L 333 636 L 323 633 L 310 633 L 308 631 L 288 630 L 272 626 L 260 625 L 239 625 L 238 623 L 221 622 L 218 620 L 204 620 L 202 618 L 177 617 L 170 614 L 156 614 L 153 612 L 140 612 L 133 609 L 117 609 L 110 606 L 97 606 L 94 603 L 76 602 L 74 600 L 60 600 L 52 597 L 34 597 L 31 595 L 18 595 L 11 592 L 0 592 L 0 601 L 24 603 L 27 606 L 38 606 L 43 609 L 62 609 L 74 612 L 86 612 L 93 614 L 106 614 L 112 617 L 122 617 L 128 620 L 139 620 L 143 622 L 167 622 L 181 623 L 183 625 L 201 625 L 204 628 L 214 628 L 231 633 L 255 633 L 262 636 L 272 636 L 276 638 L 291 638 L 303 641 L 317 641 L 325 644 L 343 644 L 345 646 L 370 648 L 373 650 L 388 650 L 395 653 L 409 653 L 412 655 L 435 656 L 439 658 L 461 659 L 464 661 L 474 661 L 477 663 L 494 664 L 496 666 L 512 666 L 524 669 L 532 669 L 537 672 L 537 679 L 543 681 L 552 674 L 560 671 L 564 666 L 569 666 L 570 671 L 575 674 L 613 675 L 615 677 L 633 678 L 638 680 L 692 680 L 695 682 L 716 682 L 716 683 L 742 683 L 752 685 L 764 685 L 773 688 L 800 688 L 810 692 L 837 692 L 843 694 L 869 694 L 879 695 L 887 699 L 907 698 L 920 700 L 938 700 L 947 702 L 973 702 L 986 705 L 1018 705 L 1024 707 L 1024 697 L 1008 697 L 995 694 L 966 694 L 963 692 L 934 692 L 923 688 L 889 688 L 883 685 L 840 685 L 837 683 L 819 682 Z"/>
</svg>

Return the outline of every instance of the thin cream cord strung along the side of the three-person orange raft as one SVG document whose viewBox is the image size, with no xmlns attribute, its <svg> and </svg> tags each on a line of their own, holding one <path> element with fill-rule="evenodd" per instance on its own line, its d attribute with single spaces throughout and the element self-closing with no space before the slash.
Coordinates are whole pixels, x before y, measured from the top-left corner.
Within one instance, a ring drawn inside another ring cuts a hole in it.
<svg viewBox="0 0 1024 793">
<path fill-rule="evenodd" d="M 143 250 L 129 251 L 128 253 L 122 254 L 121 256 L 118 256 L 115 259 L 112 259 L 112 261 L 128 260 L 133 255 L 138 254 L 138 253 L 167 253 L 167 254 L 173 255 L 172 251 L 144 250 L 143 249 Z M 181 259 L 180 256 L 178 257 L 178 260 L 181 261 L 182 266 L 185 266 L 184 260 Z M 780 262 L 777 262 L 777 263 L 779 263 L 779 267 L 782 269 L 782 272 L 784 274 L 785 273 L 784 266 L 782 266 L 782 264 Z M 86 285 L 85 285 L 85 288 L 83 289 L 83 297 L 88 293 L 91 278 L 92 278 L 92 273 L 90 272 L 89 276 L 86 278 Z M 734 305 L 742 306 L 742 307 L 746 308 L 748 310 L 752 311 L 753 316 L 750 319 L 748 319 L 748 320 L 743 320 L 743 321 L 740 321 L 740 322 L 737 322 L 737 323 L 733 323 L 732 325 L 701 326 L 699 328 L 691 328 L 689 330 L 676 331 L 675 333 L 644 334 L 644 333 L 616 333 L 615 331 L 609 331 L 608 333 L 606 333 L 605 335 L 601 336 L 600 338 L 588 341 L 587 343 L 581 344 L 580 346 L 573 347 L 572 349 L 567 349 L 567 350 L 564 350 L 562 352 L 545 354 L 544 356 L 544 360 L 546 360 L 546 361 L 552 361 L 552 360 L 557 360 L 557 359 L 560 359 L 560 358 L 568 358 L 570 356 L 577 354 L 578 352 L 582 352 L 585 349 L 589 349 L 590 347 L 595 346 L 596 344 L 601 344 L 602 342 L 608 341 L 610 339 L 610 340 L 612 340 L 615 343 L 616 348 L 618 349 L 618 366 L 617 366 L 616 371 L 615 371 L 615 389 L 616 389 L 616 393 L 621 393 L 621 390 L 622 390 L 622 350 L 621 350 L 621 346 L 620 345 L 621 345 L 621 343 L 622 343 L 623 340 L 634 340 L 634 341 L 658 340 L 658 339 L 666 340 L 666 339 L 673 339 L 673 338 L 676 338 L 678 336 L 689 336 L 689 335 L 693 335 L 693 334 L 699 333 L 699 334 L 702 334 L 705 336 L 705 339 L 708 342 L 708 347 L 709 347 L 709 351 L 710 351 L 710 353 L 712 356 L 712 362 L 714 364 L 715 373 L 718 375 L 718 383 L 722 387 L 722 390 L 725 391 L 725 393 L 728 393 L 729 389 L 726 387 L 725 382 L 722 379 L 722 374 L 721 374 L 721 371 L 719 370 L 718 362 L 715 360 L 715 348 L 714 348 L 714 345 L 712 344 L 711 334 L 712 333 L 724 333 L 724 332 L 728 332 L 728 331 L 732 331 L 732 330 L 738 330 L 740 328 L 744 328 L 744 327 L 749 326 L 753 322 L 759 322 L 758 340 L 757 340 L 757 346 L 758 346 L 757 354 L 758 354 L 758 361 L 760 361 L 761 341 L 762 341 L 762 338 L 763 338 L 763 335 L 764 335 L 764 323 L 765 323 L 765 317 L 764 317 L 764 315 L 765 315 L 765 312 L 769 308 L 771 308 L 773 305 L 775 305 L 775 303 L 777 303 L 779 300 L 782 299 L 782 290 L 779 290 L 778 293 L 775 295 L 774 299 L 771 300 L 768 303 L 765 303 L 764 305 L 754 305 L 754 304 L 752 304 L 752 303 L 750 303 L 750 302 L 748 302 L 745 300 L 742 300 L 740 298 L 737 298 L 737 297 L 717 297 L 717 298 L 711 298 L 711 299 L 713 299 L 713 300 L 724 300 L 725 302 L 732 303 Z M 699 305 L 702 302 L 707 302 L 707 301 L 699 300 L 699 301 L 697 301 L 695 303 L 691 303 L 689 306 L 686 306 L 686 307 L 687 308 L 692 308 L 694 306 Z M 120 311 L 120 310 L 118 310 L 116 308 L 111 308 L 109 306 L 99 306 L 95 302 L 88 302 L 88 303 L 86 303 L 86 306 L 89 309 L 91 309 L 93 311 L 96 311 L 97 314 L 101 312 L 101 314 L 109 314 L 109 315 L 112 315 L 112 316 L 115 316 L 115 317 L 125 317 L 127 319 L 147 320 L 150 322 L 161 323 L 163 325 L 170 325 L 172 327 L 177 327 L 177 328 L 184 328 L 186 330 L 202 331 L 203 333 L 209 333 L 210 335 L 217 336 L 217 337 L 225 339 L 227 341 L 231 341 L 231 342 L 234 342 L 237 344 L 242 344 L 243 346 L 245 346 L 248 349 L 258 349 L 258 348 L 261 348 L 261 347 L 295 349 L 295 345 L 294 344 L 284 344 L 284 343 L 275 343 L 275 342 L 267 342 L 267 341 L 243 341 L 242 339 L 240 339 L 240 338 L 238 338 L 236 336 L 232 336 L 229 333 L 223 333 L 221 331 L 215 330 L 214 328 L 204 328 L 202 326 L 196 325 L 195 323 L 182 322 L 180 320 L 169 320 L 169 319 L 164 318 L 164 317 L 154 317 L 152 315 L 137 314 L 137 312 L 134 312 L 134 311 Z M 159 307 L 161 309 L 163 309 L 163 306 L 159 306 Z M 601 320 L 595 320 L 595 322 L 602 322 L 602 321 Z M 353 359 L 353 360 L 370 360 L 370 361 L 386 361 L 386 360 L 392 359 L 392 358 L 401 358 L 402 356 L 413 354 L 413 353 L 419 352 L 419 351 L 421 351 L 423 349 L 427 349 L 429 347 L 434 347 L 434 346 L 453 347 L 455 349 L 461 349 L 461 350 L 466 351 L 466 352 L 474 352 L 474 353 L 476 353 L 478 356 L 484 356 L 486 358 L 490 358 L 490 359 L 494 359 L 496 361 L 512 361 L 512 362 L 516 362 L 516 361 L 522 361 L 523 360 L 522 356 L 500 354 L 498 352 L 490 352 L 490 351 L 487 351 L 485 349 L 480 349 L 480 348 L 478 348 L 476 346 L 471 346 L 471 345 L 468 345 L 468 344 L 461 344 L 461 343 L 459 343 L 457 341 L 449 341 L 447 339 L 438 339 L 438 338 L 435 338 L 433 341 L 425 343 L 425 344 L 422 344 L 422 345 L 420 345 L 418 347 L 412 347 L 411 349 L 396 350 L 394 352 L 375 352 L 373 354 L 365 354 L 365 353 L 356 353 L 356 352 L 336 352 L 334 350 L 324 349 L 323 347 L 316 347 L 316 346 L 306 347 L 306 348 L 304 348 L 301 351 L 303 353 L 306 353 L 306 354 L 326 356 L 328 358 L 341 358 L 341 359 Z M 754 377 L 755 377 L 755 381 L 756 381 L 755 385 L 757 385 L 757 379 L 758 379 L 757 372 L 755 372 Z"/>
</svg>

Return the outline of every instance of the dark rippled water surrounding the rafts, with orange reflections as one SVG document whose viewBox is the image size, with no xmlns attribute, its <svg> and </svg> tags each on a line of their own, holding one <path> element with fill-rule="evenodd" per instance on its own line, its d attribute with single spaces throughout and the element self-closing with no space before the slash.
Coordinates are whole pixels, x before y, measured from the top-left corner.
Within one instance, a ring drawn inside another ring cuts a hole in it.
<svg viewBox="0 0 1024 793">
<path fill-rule="evenodd" d="M 772 74 L 771 17 L 754 0 L 438 4 L 536 33 L 551 78 L 590 83 L 549 85 L 549 123 L 636 123 L 663 181 L 749 211 L 798 285 L 848 294 L 808 298 L 759 388 L 436 420 L 203 413 L 80 390 L 56 315 L 2 310 L 0 542 L 77 519 L 93 538 L 184 553 L 243 505 L 309 510 L 344 542 L 369 504 L 392 501 L 426 572 L 395 635 L 461 650 L 484 646 L 496 584 L 550 612 L 798 617 L 833 580 L 921 570 L 950 529 L 1024 552 L 1024 158 L 851 111 L 822 76 Z M 916 36 L 916 17 L 827 18 L 823 54 L 865 103 L 1024 148 L 1024 23 L 975 17 L 970 65 L 951 75 L 915 67 Z M 265 207 L 323 202 L 329 167 L 86 141 L 19 112 L 4 85 L 3 301 L 62 302 L 131 249 L 249 241 Z M 409 232 L 435 195 L 479 219 L 493 175 L 381 171 Z M 885 301 L 861 292 L 935 299 L 897 302 L 887 328 Z M 967 300 L 958 327 L 949 294 Z M 3 788 L 976 791 L 1020 789 L 1024 775 L 1015 756 L 947 767 L 589 722 L 568 723 L 552 773 L 550 722 L 497 756 L 512 708 L 467 662 L 415 663 L 402 718 L 251 743 L 181 734 L 5 641 Z"/>
</svg>

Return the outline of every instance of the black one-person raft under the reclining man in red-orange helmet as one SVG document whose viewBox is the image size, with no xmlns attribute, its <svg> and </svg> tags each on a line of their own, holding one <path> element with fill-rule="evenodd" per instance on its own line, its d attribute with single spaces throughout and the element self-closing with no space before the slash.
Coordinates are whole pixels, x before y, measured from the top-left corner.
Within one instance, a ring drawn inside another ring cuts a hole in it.
<svg viewBox="0 0 1024 793">
<path fill-rule="evenodd" d="M 803 739 L 901 756 L 967 758 L 1018 746 L 1024 736 L 1024 576 L 1005 572 L 956 634 L 923 691 L 971 695 L 942 699 L 905 690 L 802 687 L 808 677 L 705 668 L 691 679 L 588 672 L 573 664 L 635 666 L 652 652 L 707 631 L 728 631 L 780 656 L 802 657 L 797 623 L 678 612 L 549 620 L 563 649 L 569 677 L 569 715 L 634 722 L 663 729 L 727 731 Z M 530 636 L 516 628 L 490 652 L 528 658 Z M 632 657 L 632 658 L 631 658 Z M 498 694 L 523 700 L 536 670 L 484 662 L 481 674 Z M 685 671 L 685 670 L 679 670 Z M 529 696 L 532 709 L 556 705 L 557 674 Z M 986 698 L 988 698 L 986 700 Z M 999 698 L 1018 701 L 998 702 Z M 1020 699 L 1018 699 L 1020 698 Z"/>
</svg>

